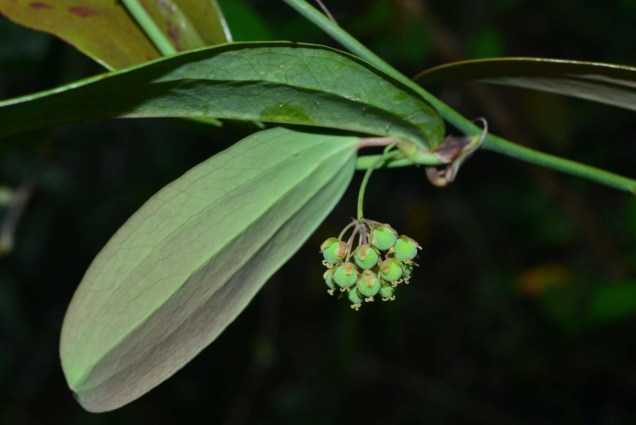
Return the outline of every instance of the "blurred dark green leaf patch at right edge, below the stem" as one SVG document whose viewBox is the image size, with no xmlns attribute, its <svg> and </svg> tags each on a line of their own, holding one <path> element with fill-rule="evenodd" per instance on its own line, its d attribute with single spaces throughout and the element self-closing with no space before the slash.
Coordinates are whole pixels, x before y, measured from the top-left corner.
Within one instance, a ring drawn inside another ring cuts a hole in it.
<svg viewBox="0 0 636 425">
<path fill-rule="evenodd" d="M 636 314 L 636 281 L 602 286 L 592 296 L 591 323 L 611 323 L 634 314 Z"/>
</svg>

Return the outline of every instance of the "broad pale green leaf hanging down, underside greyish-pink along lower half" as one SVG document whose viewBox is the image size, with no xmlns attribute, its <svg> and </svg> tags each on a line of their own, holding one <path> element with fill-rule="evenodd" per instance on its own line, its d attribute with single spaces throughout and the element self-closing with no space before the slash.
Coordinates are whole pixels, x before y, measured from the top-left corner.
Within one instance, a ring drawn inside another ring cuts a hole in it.
<svg viewBox="0 0 636 425">
<path fill-rule="evenodd" d="M 60 357 L 79 403 L 103 412 L 135 400 L 218 337 L 338 202 L 358 140 L 265 130 L 149 199 L 64 318 Z"/>
</svg>

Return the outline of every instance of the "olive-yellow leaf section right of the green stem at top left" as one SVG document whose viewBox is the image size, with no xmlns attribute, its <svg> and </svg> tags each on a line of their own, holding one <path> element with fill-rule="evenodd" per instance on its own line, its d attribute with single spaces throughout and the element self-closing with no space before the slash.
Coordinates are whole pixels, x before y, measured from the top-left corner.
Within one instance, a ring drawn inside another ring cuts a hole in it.
<svg viewBox="0 0 636 425">
<path fill-rule="evenodd" d="M 139 0 L 177 52 L 232 41 L 216 0 Z"/>
</svg>

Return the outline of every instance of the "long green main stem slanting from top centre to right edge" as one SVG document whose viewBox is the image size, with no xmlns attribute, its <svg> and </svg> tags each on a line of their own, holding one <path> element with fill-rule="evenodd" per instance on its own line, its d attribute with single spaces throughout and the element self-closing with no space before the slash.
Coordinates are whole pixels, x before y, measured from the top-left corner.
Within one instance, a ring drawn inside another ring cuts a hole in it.
<svg viewBox="0 0 636 425">
<path fill-rule="evenodd" d="M 479 134 L 481 134 L 481 129 L 471 123 L 470 120 L 460 115 L 457 111 L 455 111 L 455 109 L 446 105 L 437 97 L 424 90 L 424 88 L 420 87 L 420 85 L 410 80 L 410 78 L 404 76 L 404 74 L 397 71 L 397 69 L 387 64 L 387 62 L 382 60 L 378 55 L 371 52 L 371 50 L 366 48 L 366 46 L 357 41 L 357 39 L 353 38 L 347 31 L 343 30 L 338 25 L 335 25 L 333 22 L 331 22 L 331 20 L 329 20 L 328 17 L 314 8 L 314 6 L 308 4 L 307 1 L 283 1 L 289 4 L 289 6 L 294 8 L 305 18 L 310 20 L 313 24 L 317 25 L 317 27 L 322 29 L 322 31 L 331 36 L 331 38 L 335 39 L 336 41 L 338 41 L 338 43 L 345 46 L 345 48 L 347 48 L 347 50 L 349 50 L 351 53 L 354 53 L 354 55 L 367 60 L 371 64 L 385 71 L 385 73 L 391 74 L 394 78 L 415 90 L 415 92 L 417 92 L 419 95 L 424 97 L 424 99 L 430 102 L 432 106 L 434 106 L 434 108 L 438 110 L 439 114 L 445 118 L 446 121 L 454 125 L 457 129 L 466 134 L 466 136 L 478 136 Z M 501 153 L 503 155 L 508 155 L 509 157 L 513 157 L 518 160 L 530 162 L 531 164 L 541 165 L 543 167 L 554 169 L 556 171 L 561 171 L 567 174 L 572 174 L 574 176 L 590 179 L 603 185 L 608 185 L 620 190 L 625 190 L 626 192 L 636 192 L 636 180 L 634 179 L 618 176 L 618 174 L 597 169 L 595 167 L 590 167 L 589 165 L 579 164 L 565 158 L 555 157 L 548 153 L 525 148 L 524 146 L 513 143 L 506 139 L 502 139 L 501 137 L 494 136 L 493 134 L 488 134 L 483 143 L 483 148 Z M 361 168 L 363 165 L 366 165 L 368 162 L 371 161 L 370 158 L 371 157 L 359 158 L 359 162 L 357 164 L 358 167 Z M 389 167 L 400 167 L 403 165 L 408 164 L 406 164 L 406 162 L 404 161 L 393 161 L 387 164 L 387 166 Z"/>
</svg>

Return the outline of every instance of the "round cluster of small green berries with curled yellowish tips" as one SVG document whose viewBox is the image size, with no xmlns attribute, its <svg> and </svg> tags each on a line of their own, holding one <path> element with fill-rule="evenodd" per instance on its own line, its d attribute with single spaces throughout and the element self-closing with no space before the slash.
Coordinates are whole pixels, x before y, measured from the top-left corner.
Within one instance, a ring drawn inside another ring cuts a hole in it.
<svg viewBox="0 0 636 425">
<path fill-rule="evenodd" d="M 351 227 L 354 230 L 349 242 L 344 242 L 342 237 Z M 356 235 L 358 246 L 352 249 Z M 354 220 L 339 237 L 330 237 L 321 245 L 322 264 L 328 268 L 323 275 L 327 292 L 333 295 L 340 289 L 343 296 L 346 291 L 351 308 L 356 310 L 363 301 L 373 302 L 378 293 L 382 301 L 395 300 L 397 284 L 408 284 L 413 266 L 417 265 L 413 259 L 418 249 L 422 247 L 415 240 L 398 237 L 391 225 L 364 218 Z M 349 261 L 352 256 L 353 262 Z"/>
</svg>

